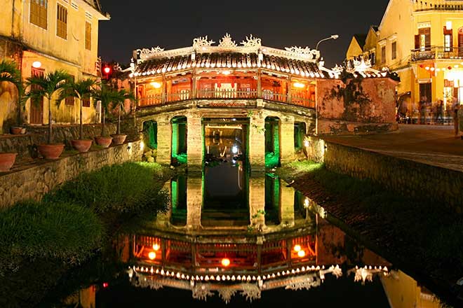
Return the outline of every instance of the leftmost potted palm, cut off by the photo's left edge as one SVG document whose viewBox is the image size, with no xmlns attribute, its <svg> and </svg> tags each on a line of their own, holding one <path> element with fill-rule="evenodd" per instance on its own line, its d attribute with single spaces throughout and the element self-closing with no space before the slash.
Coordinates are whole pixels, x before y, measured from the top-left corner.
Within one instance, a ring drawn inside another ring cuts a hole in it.
<svg viewBox="0 0 463 308">
<path fill-rule="evenodd" d="M 16 120 L 17 126 L 11 127 L 12 134 L 24 134 L 25 128 L 21 127 L 22 117 L 21 111 L 24 107 L 24 86 L 22 84 L 22 77 L 20 70 L 16 67 L 15 62 L 3 59 L 0 61 L 0 82 L 6 81 L 13 83 L 16 90 L 18 90 L 18 118 Z"/>
</svg>

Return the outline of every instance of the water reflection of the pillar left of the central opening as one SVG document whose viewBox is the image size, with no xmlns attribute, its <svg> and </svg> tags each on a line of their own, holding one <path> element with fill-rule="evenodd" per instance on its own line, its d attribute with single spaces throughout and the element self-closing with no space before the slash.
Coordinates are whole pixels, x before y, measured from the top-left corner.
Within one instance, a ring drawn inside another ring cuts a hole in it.
<svg viewBox="0 0 463 308">
<path fill-rule="evenodd" d="M 201 228 L 201 206 L 203 204 L 203 185 L 199 177 L 187 179 L 187 229 Z"/>
</svg>

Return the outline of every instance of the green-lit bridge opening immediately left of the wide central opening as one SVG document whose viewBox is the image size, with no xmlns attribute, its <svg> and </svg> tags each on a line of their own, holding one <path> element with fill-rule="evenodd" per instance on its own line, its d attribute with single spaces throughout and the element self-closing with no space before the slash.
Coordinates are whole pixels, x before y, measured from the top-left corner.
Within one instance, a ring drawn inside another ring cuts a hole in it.
<svg viewBox="0 0 463 308">
<path fill-rule="evenodd" d="M 172 145 L 171 145 L 171 162 L 173 164 L 187 163 L 188 151 L 188 130 L 187 130 L 187 117 L 175 116 L 170 120 L 172 126 Z"/>
</svg>

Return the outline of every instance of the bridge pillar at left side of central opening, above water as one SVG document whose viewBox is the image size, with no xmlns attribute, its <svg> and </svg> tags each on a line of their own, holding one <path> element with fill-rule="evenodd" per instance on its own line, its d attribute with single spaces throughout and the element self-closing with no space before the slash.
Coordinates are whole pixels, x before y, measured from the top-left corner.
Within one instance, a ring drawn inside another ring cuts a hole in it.
<svg viewBox="0 0 463 308">
<path fill-rule="evenodd" d="M 203 127 L 201 116 L 190 113 L 187 119 L 188 169 L 201 169 L 203 165 Z"/>
</svg>

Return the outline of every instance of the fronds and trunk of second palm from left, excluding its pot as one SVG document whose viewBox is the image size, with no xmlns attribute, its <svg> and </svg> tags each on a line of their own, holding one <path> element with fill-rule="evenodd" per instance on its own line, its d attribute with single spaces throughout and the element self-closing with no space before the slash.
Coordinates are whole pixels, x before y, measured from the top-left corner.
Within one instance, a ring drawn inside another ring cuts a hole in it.
<svg viewBox="0 0 463 308">
<path fill-rule="evenodd" d="M 31 102 L 37 102 L 42 97 L 45 97 L 48 101 L 48 144 L 51 144 L 53 140 L 51 106 L 53 102 L 59 102 L 60 93 L 65 89 L 66 83 L 69 83 L 71 80 L 72 77 L 66 71 L 62 70 L 51 71 L 43 76 L 27 78 L 26 87 L 31 87 L 31 89 L 25 94 L 25 97 L 31 99 Z"/>
</svg>

